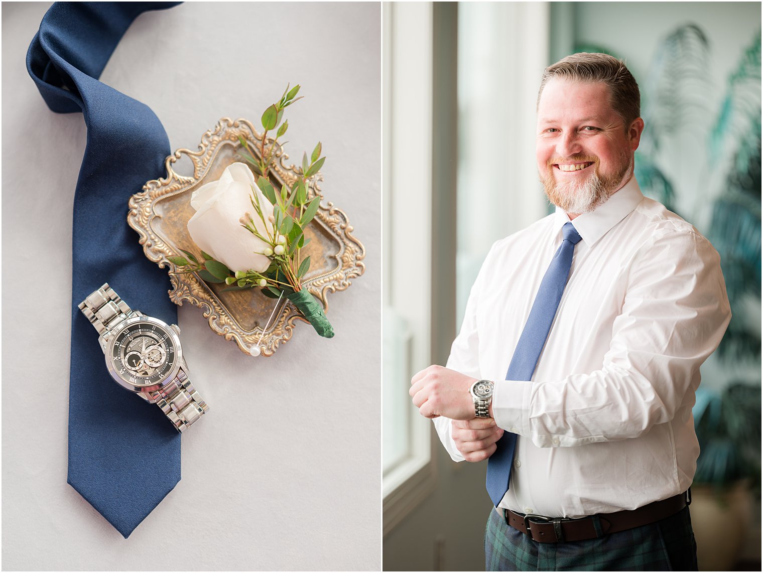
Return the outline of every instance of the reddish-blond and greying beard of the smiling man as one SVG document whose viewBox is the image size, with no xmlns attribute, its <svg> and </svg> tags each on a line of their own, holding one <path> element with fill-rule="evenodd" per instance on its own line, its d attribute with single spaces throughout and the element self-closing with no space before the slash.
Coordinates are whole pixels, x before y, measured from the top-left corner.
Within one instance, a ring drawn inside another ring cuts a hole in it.
<svg viewBox="0 0 763 573">
<path fill-rule="evenodd" d="M 556 182 L 552 169 L 556 169 L 554 165 L 559 162 L 555 159 L 548 163 L 545 173 L 539 173 L 540 181 L 546 191 L 546 197 L 565 213 L 580 214 L 593 211 L 600 204 L 604 204 L 620 188 L 626 175 L 633 172 L 633 161 L 627 152 L 623 152 L 620 156 L 616 172 L 601 177 L 597 172 L 599 163 L 595 156 L 572 157 L 565 161 L 570 163 L 594 162 L 594 172 L 588 176 L 588 179 L 580 182 Z"/>
</svg>

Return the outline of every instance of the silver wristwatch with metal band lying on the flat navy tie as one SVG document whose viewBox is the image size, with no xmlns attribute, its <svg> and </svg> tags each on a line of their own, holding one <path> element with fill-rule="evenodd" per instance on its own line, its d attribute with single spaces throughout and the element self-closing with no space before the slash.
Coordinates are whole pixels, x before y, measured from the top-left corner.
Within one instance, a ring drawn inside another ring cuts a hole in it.
<svg viewBox="0 0 763 573">
<path fill-rule="evenodd" d="M 182 432 L 208 410 L 182 356 L 180 328 L 134 311 L 108 283 L 79 304 L 98 330 L 111 378 L 150 404 L 158 405 Z"/>
</svg>

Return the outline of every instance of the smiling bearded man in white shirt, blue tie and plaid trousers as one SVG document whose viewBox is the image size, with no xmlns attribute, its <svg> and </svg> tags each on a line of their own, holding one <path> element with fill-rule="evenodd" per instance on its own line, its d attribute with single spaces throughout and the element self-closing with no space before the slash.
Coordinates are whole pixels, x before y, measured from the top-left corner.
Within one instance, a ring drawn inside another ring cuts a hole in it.
<svg viewBox="0 0 763 573">
<path fill-rule="evenodd" d="M 537 114 L 556 211 L 494 243 L 448 363 L 410 395 L 452 459 L 488 460 L 488 570 L 696 570 L 691 407 L 730 319 L 719 256 L 639 190 L 623 62 L 549 66 Z"/>
</svg>

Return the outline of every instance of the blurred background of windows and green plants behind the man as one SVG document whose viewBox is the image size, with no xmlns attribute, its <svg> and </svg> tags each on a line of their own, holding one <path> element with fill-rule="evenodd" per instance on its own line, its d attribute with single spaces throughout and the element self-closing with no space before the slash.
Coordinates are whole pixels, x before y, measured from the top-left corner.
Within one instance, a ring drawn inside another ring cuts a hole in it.
<svg viewBox="0 0 763 573">
<path fill-rule="evenodd" d="M 446 362 L 491 244 L 549 213 L 535 164 L 543 68 L 626 60 L 636 178 L 710 238 L 733 318 L 703 365 L 692 486 L 700 570 L 761 570 L 761 4 L 383 5 L 383 492 L 387 571 L 481 570 L 485 464 L 456 464 L 410 404 Z"/>
</svg>

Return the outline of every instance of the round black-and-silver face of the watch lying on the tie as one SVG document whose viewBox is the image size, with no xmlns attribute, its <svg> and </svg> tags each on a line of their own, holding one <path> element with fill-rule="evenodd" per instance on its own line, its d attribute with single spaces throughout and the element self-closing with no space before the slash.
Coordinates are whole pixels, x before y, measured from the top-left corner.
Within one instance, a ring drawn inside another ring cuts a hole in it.
<svg viewBox="0 0 763 573">
<path fill-rule="evenodd" d="M 179 364 L 177 335 L 160 320 L 127 320 L 111 344 L 109 370 L 131 386 L 144 388 L 165 380 Z"/>
</svg>

